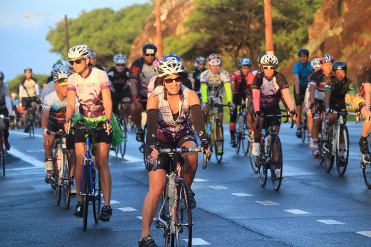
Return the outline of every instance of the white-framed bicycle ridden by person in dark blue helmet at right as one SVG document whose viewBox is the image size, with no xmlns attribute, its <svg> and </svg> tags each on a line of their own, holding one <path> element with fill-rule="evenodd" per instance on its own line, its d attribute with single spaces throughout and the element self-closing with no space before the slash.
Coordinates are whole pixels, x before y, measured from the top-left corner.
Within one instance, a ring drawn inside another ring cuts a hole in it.
<svg viewBox="0 0 371 247">
<path fill-rule="evenodd" d="M 336 170 L 339 176 L 343 176 L 348 165 L 349 158 L 349 132 L 347 126 L 344 124 L 348 112 L 346 110 L 338 112 L 338 119 L 328 132 L 328 140 L 322 142 L 323 160 L 325 171 L 330 172 L 334 159 L 336 157 Z M 322 128 L 322 137 L 324 134 L 324 127 Z M 344 149 L 340 148 L 340 136 L 344 137 Z M 344 159 L 344 160 L 343 160 Z"/>
</svg>

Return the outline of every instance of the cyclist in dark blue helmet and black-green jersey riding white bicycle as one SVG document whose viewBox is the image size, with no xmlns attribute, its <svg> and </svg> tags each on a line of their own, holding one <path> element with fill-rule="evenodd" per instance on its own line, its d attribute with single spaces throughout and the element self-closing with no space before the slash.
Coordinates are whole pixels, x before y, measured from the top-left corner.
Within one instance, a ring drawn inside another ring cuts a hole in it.
<svg viewBox="0 0 371 247">
<path fill-rule="evenodd" d="M 345 95 L 348 93 L 353 100 L 356 96 L 352 81 L 346 77 L 347 64 L 343 61 L 335 61 L 332 65 L 332 76 L 327 79 L 325 86 L 325 114 L 328 119 L 325 124 L 324 136 L 325 141 L 328 140 L 328 131 L 338 118 L 337 112 L 347 111 L 345 105 Z M 347 118 L 344 119 L 346 124 Z M 339 151 L 340 160 L 344 162 L 344 136 L 340 136 Z"/>
</svg>

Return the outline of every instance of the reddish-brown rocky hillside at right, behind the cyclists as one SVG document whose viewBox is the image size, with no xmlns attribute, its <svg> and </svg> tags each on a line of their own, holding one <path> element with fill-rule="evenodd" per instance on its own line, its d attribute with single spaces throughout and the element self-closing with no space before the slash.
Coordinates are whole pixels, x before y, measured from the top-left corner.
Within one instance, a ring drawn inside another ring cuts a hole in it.
<svg viewBox="0 0 371 247">
<path fill-rule="evenodd" d="M 273 20 L 274 21 L 274 20 Z M 305 46 L 310 58 L 324 53 L 345 61 L 348 77 L 357 85 L 363 70 L 371 66 L 371 5 L 369 0 L 327 0 L 317 10 Z M 281 69 L 292 83 L 291 63 Z"/>
</svg>

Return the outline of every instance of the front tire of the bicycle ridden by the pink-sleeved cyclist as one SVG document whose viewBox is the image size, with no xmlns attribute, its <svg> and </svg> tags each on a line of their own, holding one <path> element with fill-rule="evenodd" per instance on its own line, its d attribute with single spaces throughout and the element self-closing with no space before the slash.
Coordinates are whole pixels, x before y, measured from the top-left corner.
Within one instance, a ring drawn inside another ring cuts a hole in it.
<svg viewBox="0 0 371 247">
<path fill-rule="evenodd" d="M 276 148 L 277 152 L 277 160 L 279 161 L 279 166 L 280 166 L 280 177 L 276 177 L 275 175 L 275 164 L 274 164 L 274 147 Z M 279 136 L 273 136 L 271 141 L 270 141 L 270 147 L 269 147 L 269 155 L 270 155 L 270 172 L 271 172 L 271 178 L 272 178 L 272 186 L 275 191 L 279 191 L 281 187 L 281 182 L 283 178 L 283 156 L 282 156 L 282 145 L 281 145 L 281 140 Z"/>
</svg>

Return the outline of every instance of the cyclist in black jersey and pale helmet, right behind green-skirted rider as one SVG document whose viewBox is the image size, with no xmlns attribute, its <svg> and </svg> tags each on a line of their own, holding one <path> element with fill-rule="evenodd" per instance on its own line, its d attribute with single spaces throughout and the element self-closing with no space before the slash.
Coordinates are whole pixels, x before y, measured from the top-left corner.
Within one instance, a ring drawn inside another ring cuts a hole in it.
<svg viewBox="0 0 371 247">
<path fill-rule="evenodd" d="M 119 114 L 117 101 L 130 102 L 132 93 L 130 92 L 129 86 L 129 69 L 126 68 L 128 58 L 122 54 L 116 54 L 113 56 L 113 63 L 115 66 L 107 71 L 109 84 L 112 95 L 113 112 Z M 115 101 L 115 102 L 114 102 Z M 130 105 L 122 104 L 123 115 L 128 119 L 130 115 Z"/>
</svg>

